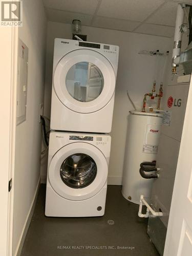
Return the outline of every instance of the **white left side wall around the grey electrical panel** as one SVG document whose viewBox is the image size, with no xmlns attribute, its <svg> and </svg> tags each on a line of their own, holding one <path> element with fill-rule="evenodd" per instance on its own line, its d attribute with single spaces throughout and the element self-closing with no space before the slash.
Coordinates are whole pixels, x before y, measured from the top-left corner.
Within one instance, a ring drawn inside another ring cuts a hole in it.
<svg viewBox="0 0 192 256">
<path fill-rule="evenodd" d="M 27 119 L 16 127 L 13 255 L 25 229 L 40 177 L 41 125 L 39 104 L 43 102 L 47 20 L 42 2 L 23 1 L 23 27 L 18 36 L 29 48 Z"/>
</svg>

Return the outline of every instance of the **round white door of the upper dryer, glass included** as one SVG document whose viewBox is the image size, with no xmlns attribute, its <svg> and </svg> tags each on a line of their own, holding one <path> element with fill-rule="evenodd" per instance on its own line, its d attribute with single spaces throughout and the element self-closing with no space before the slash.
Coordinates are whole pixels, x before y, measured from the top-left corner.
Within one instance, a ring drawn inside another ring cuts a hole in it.
<svg viewBox="0 0 192 256">
<path fill-rule="evenodd" d="M 115 72 L 108 59 L 94 50 L 74 50 L 60 59 L 53 86 L 59 100 L 78 113 L 96 112 L 115 91 Z"/>
</svg>

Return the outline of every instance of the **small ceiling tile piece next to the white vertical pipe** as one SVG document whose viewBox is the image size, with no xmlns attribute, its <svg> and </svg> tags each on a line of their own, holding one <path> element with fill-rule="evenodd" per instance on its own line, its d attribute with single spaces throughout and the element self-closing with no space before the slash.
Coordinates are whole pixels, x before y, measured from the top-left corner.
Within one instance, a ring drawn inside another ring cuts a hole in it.
<svg viewBox="0 0 192 256">
<path fill-rule="evenodd" d="M 164 4 L 156 13 L 147 19 L 147 23 L 175 26 L 177 4 L 168 2 Z"/>
</svg>

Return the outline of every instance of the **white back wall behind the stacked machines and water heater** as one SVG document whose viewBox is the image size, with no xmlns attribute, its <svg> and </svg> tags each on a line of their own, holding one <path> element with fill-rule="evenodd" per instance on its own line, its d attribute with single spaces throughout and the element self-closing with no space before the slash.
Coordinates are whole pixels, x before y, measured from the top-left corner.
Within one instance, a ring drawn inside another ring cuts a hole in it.
<svg viewBox="0 0 192 256">
<path fill-rule="evenodd" d="M 172 48 L 173 39 L 161 36 L 145 35 L 117 30 L 82 27 L 82 33 L 88 35 L 88 41 L 114 44 L 120 47 L 119 66 L 116 82 L 115 107 L 112 127 L 111 160 L 109 166 L 109 183 L 121 184 L 124 148 L 126 141 L 127 115 L 133 107 L 127 98 L 126 91 L 138 109 L 141 108 L 143 96 L 152 90 L 154 73 L 156 72 L 157 57 L 139 55 L 142 50 L 167 51 Z M 48 22 L 46 83 L 44 99 L 44 115 L 50 117 L 52 61 L 54 38 L 72 38 L 69 24 Z M 158 57 L 158 67 L 162 69 L 163 59 Z M 160 80 L 161 75 L 159 75 Z M 157 84 L 159 90 L 159 83 Z M 46 179 L 47 159 L 41 165 L 42 181 Z"/>
</svg>

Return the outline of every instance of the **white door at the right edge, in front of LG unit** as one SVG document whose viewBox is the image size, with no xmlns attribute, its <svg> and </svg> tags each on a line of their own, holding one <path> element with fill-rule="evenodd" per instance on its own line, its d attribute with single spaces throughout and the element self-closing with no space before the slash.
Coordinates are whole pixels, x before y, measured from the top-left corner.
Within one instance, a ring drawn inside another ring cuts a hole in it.
<svg viewBox="0 0 192 256">
<path fill-rule="evenodd" d="M 164 256 L 192 255 L 192 82 L 188 94 Z"/>
</svg>

